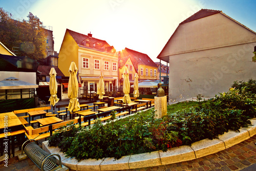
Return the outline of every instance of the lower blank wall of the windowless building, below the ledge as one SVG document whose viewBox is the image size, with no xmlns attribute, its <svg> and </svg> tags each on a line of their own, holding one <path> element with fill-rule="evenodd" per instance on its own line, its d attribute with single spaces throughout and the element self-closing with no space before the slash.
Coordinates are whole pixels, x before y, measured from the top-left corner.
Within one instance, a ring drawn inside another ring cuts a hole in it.
<svg viewBox="0 0 256 171">
<path fill-rule="evenodd" d="M 170 60 L 169 93 L 172 100 L 226 92 L 235 80 L 256 79 L 252 62 L 256 42 L 174 55 Z"/>
</svg>

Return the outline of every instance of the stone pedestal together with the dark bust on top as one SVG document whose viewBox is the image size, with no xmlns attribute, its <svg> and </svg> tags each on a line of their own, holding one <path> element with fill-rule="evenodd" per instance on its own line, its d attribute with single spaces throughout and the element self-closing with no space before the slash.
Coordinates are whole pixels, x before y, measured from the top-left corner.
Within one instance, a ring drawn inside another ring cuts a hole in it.
<svg viewBox="0 0 256 171">
<path fill-rule="evenodd" d="M 155 96 L 155 118 L 162 118 L 164 115 L 167 115 L 167 96 L 164 95 L 161 82 L 157 84 L 157 87 L 157 96 Z"/>
</svg>

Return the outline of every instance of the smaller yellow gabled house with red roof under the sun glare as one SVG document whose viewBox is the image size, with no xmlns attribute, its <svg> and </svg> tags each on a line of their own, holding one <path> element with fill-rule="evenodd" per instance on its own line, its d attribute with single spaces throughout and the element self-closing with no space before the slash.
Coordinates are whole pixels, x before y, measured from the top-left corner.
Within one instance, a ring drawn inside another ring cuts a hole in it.
<svg viewBox="0 0 256 171">
<path fill-rule="evenodd" d="M 139 81 L 146 79 L 157 80 L 158 67 L 147 54 L 128 48 L 119 52 L 119 81 L 122 84 L 122 73 L 128 67 L 130 82 L 133 83 L 135 73 L 139 75 Z"/>
</svg>

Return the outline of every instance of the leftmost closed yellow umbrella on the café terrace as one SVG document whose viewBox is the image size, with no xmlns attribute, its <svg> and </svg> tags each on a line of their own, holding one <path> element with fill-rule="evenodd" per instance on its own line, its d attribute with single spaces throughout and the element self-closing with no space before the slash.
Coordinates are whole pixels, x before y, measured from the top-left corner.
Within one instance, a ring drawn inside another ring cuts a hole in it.
<svg viewBox="0 0 256 171">
<path fill-rule="evenodd" d="M 50 101 L 50 105 L 53 106 L 53 114 L 54 114 L 54 105 L 59 101 L 59 98 L 57 97 L 57 90 L 58 90 L 57 81 L 56 81 L 57 73 L 54 68 L 51 68 L 49 75 L 50 75 L 49 89 L 50 89 L 51 97 L 48 101 Z"/>
</svg>

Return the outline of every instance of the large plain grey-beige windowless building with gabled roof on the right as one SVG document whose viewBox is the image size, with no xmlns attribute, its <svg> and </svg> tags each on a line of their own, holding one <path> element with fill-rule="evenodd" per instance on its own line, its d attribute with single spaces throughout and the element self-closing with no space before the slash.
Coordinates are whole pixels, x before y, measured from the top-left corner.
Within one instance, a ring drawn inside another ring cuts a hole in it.
<svg viewBox="0 0 256 171">
<path fill-rule="evenodd" d="M 169 100 L 227 92 L 256 79 L 256 33 L 222 11 L 202 9 L 179 24 L 158 59 L 169 63 Z"/>
</svg>

